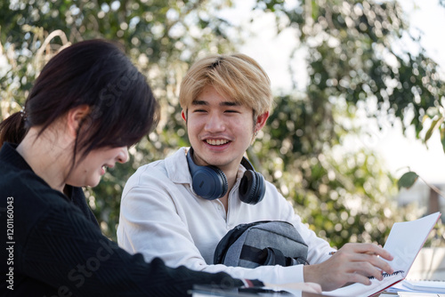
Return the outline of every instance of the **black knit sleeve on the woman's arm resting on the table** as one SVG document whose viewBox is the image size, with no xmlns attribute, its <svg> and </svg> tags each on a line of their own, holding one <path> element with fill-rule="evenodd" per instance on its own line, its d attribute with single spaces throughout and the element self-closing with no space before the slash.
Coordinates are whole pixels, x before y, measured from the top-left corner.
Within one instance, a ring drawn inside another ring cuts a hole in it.
<svg viewBox="0 0 445 297">
<path fill-rule="evenodd" d="M 192 285 L 243 285 L 225 273 L 171 269 L 160 259 L 146 263 L 71 207 L 50 209 L 29 233 L 22 254 L 20 270 L 67 296 L 186 296 Z"/>
</svg>

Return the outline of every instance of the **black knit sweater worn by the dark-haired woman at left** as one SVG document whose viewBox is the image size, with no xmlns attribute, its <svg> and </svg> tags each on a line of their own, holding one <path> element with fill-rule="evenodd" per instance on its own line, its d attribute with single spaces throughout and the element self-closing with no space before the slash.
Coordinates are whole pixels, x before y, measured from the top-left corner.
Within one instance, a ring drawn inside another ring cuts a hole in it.
<svg viewBox="0 0 445 297">
<path fill-rule="evenodd" d="M 243 285 L 126 253 L 101 234 L 82 189 L 71 198 L 51 189 L 15 148 L 0 150 L 0 295 L 166 297 L 192 285 Z"/>
</svg>

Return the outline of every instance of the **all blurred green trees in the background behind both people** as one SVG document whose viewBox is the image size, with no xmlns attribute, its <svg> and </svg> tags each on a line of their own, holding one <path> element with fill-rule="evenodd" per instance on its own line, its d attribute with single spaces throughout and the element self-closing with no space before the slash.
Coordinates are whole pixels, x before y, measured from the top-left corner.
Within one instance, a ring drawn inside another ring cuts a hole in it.
<svg viewBox="0 0 445 297">
<path fill-rule="evenodd" d="M 188 145 L 178 86 L 190 61 L 208 52 L 231 52 L 240 43 L 239 28 L 218 17 L 221 8 L 230 6 L 229 0 L 0 3 L 0 116 L 20 109 L 54 52 L 93 37 L 125 44 L 161 102 L 157 131 L 130 149 L 130 162 L 106 173 L 98 187 L 86 189 L 109 237 L 116 238 L 120 195 L 135 169 Z M 290 6 L 283 0 L 257 0 L 255 10 L 274 13 L 278 32 L 295 30 L 307 52 L 309 83 L 303 93 L 277 97 L 249 157 L 332 245 L 382 244 L 393 221 L 414 219 L 418 210 L 412 209 L 411 217 L 394 212 L 389 200 L 394 181 L 370 150 L 338 151 L 346 135 L 360 132 L 351 124 L 360 102 L 403 123 L 411 110 L 415 116 L 408 123 L 419 135 L 423 116 L 432 115 L 433 108 L 441 112 L 437 66 L 420 47 L 414 54 L 395 46 L 408 34 L 397 3 L 314 0 Z M 413 42 L 418 44 L 416 38 Z"/>
</svg>

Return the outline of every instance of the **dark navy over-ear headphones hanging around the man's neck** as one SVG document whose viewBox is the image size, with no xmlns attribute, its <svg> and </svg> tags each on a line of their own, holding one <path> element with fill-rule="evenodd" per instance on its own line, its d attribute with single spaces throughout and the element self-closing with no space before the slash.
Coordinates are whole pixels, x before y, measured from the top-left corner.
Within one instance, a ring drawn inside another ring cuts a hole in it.
<svg viewBox="0 0 445 297">
<path fill-rule="evenodd" d="M 191 154 L 193 154 L 193 148 L 190 148 L 187 153 L 187 163 L 191 174 L 191 185 L 195 193 L 206 200 L 223 197 L 229 188 L 223 171 L 216 166 L 196 165 Z M 246 157 L 241 160 L 241 165 L 247 170 L 239 183 L 239 200 L 249 205 L 256 205 L 263 200 L 266 192 L 263 175 L 255 172 L 254 166 Z"/>
</svg>

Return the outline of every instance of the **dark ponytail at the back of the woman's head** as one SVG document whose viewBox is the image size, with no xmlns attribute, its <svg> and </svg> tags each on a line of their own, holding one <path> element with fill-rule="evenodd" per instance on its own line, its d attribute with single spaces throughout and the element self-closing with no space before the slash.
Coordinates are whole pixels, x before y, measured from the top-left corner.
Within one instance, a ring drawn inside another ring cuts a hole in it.
<svg viewBox="0 0 445 297">
<path fill-rule="evenodd" d="M 16 112 L 0 123 L 0 148 L 4 142 L 19 144 L 25 137 L 27 128 L 23 112 Z"/>
</svg>

